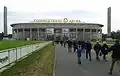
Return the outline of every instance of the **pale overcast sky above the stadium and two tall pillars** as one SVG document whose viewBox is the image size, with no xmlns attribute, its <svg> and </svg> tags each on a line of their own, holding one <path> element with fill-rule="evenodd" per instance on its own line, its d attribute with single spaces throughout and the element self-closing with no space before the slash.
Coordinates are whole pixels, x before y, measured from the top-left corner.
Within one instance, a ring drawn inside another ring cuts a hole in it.
<svg viewBox="0 0 120 76">
<path fill-rule="evenodd" d="M 1 0 L 0 32 L 3 31 L 3 8 L 8 8 L 8 32 L 10 24 L 30 22 L 33 19 L 80 19 L 103 24 L 107 33 L 107 8 L 112 9 L 112 31 L 120 29 L 119 0 Z"/>
</svg>

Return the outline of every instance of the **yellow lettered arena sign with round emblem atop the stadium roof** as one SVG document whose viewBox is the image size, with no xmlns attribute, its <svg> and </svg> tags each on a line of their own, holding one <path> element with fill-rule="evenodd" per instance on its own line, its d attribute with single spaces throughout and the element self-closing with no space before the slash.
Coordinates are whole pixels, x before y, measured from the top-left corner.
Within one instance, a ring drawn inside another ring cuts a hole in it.
<svg viewBox="0 0 120 76">
<path fill-rule="evenodd" d="M 32 21 L 32 23 L 80 23 L 80 20 L 72 20 L 72 19 L 68 19 L 68 18 L 64 18 L 64 19 L 34 19 L 34 21 Z"/>
</svg>

